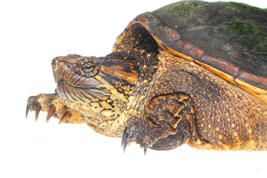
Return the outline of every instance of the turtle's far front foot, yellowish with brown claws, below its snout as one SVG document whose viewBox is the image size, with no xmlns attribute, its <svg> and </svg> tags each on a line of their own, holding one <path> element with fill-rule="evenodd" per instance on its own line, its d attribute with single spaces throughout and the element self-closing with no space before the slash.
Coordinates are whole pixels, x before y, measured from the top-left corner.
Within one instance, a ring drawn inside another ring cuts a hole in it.
<svg viewBox="0 0 267 178">
<path fill-rule="evenodd" d="M 46 123 L 50 117 L 56 117 L 60 119 L 58 124 L 61 123 L 84 123 L 83 115 L 70 107 L 63 104 L 62 99 L 55 91 L 52 94 L 41 93 L 37 96 L 30 96 L 27 101 L 26 118 L 29 110 L 35 111 L 35 120 L 37 122 L 40 111 L 47 112 Z"/>
</svg>

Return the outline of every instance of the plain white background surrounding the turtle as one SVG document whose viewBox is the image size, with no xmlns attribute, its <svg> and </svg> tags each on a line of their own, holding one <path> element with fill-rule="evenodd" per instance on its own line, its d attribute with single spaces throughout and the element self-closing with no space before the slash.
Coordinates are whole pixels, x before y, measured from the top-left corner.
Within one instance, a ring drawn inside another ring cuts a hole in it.
<svg viewBox="0 0 267 178">
<path fill-rule="evenodd" d="M 0 177 L 266 177 L 267 152 L 147 150 L 96 134 L 86 124 L 58 125 L 26 101 L 53 93 L 51 60 L 105 56 L 137 15 L 174 1 L 1 1 Z M 240 2 L 240 1 L 239 1 Z M 267 7 L 267 1 L 242 1 Z"/>
</svg>

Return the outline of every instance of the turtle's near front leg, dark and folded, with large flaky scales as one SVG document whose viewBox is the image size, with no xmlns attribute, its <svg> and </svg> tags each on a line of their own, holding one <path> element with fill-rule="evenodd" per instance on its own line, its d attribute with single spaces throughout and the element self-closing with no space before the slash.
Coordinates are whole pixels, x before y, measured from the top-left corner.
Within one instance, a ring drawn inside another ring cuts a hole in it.
<svg viewBox="0 0 267 178">
<path fill-rule="evenodd" d="M 154 150 L 174 149 L 188 141 L 190 127 L 194 125 L 194 108 L 184 93 L 157 96 L 146 115 L 136 114 L 127 122 L 122 137 L 124 150 L 128 143 L 136 142 Z"/>
</svg>

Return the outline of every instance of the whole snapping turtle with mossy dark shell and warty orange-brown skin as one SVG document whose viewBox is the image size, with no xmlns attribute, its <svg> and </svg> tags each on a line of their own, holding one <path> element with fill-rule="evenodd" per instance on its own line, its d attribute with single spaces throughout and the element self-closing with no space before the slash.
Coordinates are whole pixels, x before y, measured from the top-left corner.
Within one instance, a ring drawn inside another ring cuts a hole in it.
<svg viewBox="0 0 267 178">
<path fill-rule="evenodd" d="M 106 57 L 52 61 L 57 89 L 28 111 L 169 150 L 266 150 L 267 12 L 234 2 L 180 1 L 145 12 Z"/>
</svg>

